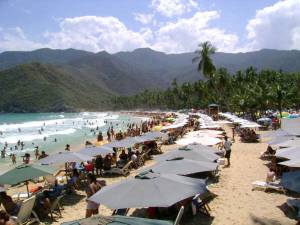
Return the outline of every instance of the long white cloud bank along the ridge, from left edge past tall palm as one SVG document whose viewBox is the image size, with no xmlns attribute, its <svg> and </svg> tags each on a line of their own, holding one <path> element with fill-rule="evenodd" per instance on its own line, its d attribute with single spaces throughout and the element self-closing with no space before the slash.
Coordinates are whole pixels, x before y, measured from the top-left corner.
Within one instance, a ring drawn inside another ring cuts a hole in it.
<svg viewBox="0 0 300 225">
<path fill-rule="evenodd" d="M 219 19 L 216 11 L 197 12 L 190 18 L 162 24 L 157 28 L 127 28 L 115 17 L 82 16 L 60 20 L 59 31 L 46 32 L 44 44 L 29 40 L 22 29 L 0 29 L 0 51 L 32 50 L 41 47 L 75 48 L 110 53 L 151 47 L 167 53 L 194 51 L 203 41 L 211 41 L 220 51 L 234 51 L 238 37 L 212 27 L 209 22 Z"/>
</svg>

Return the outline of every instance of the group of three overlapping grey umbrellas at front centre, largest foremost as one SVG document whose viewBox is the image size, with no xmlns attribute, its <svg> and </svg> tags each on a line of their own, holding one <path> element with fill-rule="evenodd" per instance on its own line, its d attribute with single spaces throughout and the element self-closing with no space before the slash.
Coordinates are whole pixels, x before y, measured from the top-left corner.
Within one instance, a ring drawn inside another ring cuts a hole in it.
<svg viewBox="0 0 300 225">
<path fill-rule="evenodd" d="M 213 148 L 203 145 L 176 148 L 155 157 L 156 164 L 141 170 L 136 177 L 104 187 L 89 200 L 112 209 L 169 207 L 205 193 L 205 180 L 180 175 L 214 171 L 218 158 Z"/>
</svg>

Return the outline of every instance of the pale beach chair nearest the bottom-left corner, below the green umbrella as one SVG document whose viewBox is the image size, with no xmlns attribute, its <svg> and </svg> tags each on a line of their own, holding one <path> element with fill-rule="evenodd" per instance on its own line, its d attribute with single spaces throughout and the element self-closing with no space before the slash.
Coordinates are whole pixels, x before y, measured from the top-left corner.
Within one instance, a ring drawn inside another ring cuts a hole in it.
<svg viewBox="0 0 300 225">
<path fill-rule="evenodd" d="M 20 211 L 16 217 L 12 217 L 17 224 L 40 224 L 37 214 L 33 211 L 35 196 L 24 200 L 21 204 Z"/>
</svg>

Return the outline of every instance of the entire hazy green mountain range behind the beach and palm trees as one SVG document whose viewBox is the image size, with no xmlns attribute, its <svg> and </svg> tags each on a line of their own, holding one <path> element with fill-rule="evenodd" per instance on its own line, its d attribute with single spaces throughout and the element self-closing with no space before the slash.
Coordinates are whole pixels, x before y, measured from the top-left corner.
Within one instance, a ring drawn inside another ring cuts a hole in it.
<svg viewBox="0 0 300 225">
<path fill-rule="evenodd" d="M 194 53 L 166 54 L 150 48 L 115 54 L 75 49 L 3 52 L 0 111 L 105 110 L 115 95 L 165 89 L 173 79 L 178 83 L 202 79 L 192 63 L 194 57 Z M 298 50 L 218 52 L 213 60 L 231 73 L 250 66 L 300 71 Z"/>
</svg>

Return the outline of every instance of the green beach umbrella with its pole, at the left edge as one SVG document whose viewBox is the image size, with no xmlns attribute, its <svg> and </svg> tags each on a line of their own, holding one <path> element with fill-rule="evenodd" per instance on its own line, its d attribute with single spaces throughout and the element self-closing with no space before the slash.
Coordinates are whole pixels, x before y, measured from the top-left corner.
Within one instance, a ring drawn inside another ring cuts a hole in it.
<svg viewBox="0 0 300 225">
<path fill-rule="evenodd" d="M 26 183 L 29 196 L 28 181 L 38 177 L 54 174 L 56 169 L 48 165 L 24 164 L 0 175 L 0 184 L 15 185 Z"/>
</svg>

